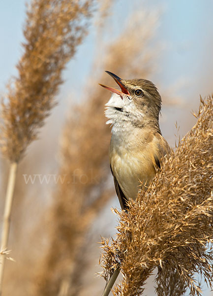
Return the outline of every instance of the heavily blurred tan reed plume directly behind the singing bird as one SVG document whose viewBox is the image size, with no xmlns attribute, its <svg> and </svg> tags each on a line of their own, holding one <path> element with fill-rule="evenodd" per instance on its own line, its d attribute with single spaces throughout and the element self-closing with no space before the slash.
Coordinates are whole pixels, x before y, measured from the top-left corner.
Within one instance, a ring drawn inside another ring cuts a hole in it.
<svg viewBox="0 0 213 296">
<path fill-rule="evenodd" d="M 152 68 L 148 55 L 149 41 L 156 21 L 154 13 L 132 15 L 117 41 L 108 46 L 102 67 L 117 74 L 137 76 L 140 72 L 141 77 L 147 76 Z M 144 29 L 145 24 L 149 27 L 149 34 Z M 140 38 L 132 33 L 138 25 Z M 66 179 L 54 194 L 56 202 L 50 213 L 51 242 L 36 279 L 36 291 L 41 296 L 79 294 L 86 264 L 86 234 L 114 192 L 108 187 L 110 130 L 103 112 L 109 94 L 97 85 L 96 78 L 88 80 L 91 86 L 86 86 L 83 103 L 72 107 L 64 125 L 60 175 Z M 109 78 L 101 74 L 98 81 L 108 83 Z"/>
</svg>

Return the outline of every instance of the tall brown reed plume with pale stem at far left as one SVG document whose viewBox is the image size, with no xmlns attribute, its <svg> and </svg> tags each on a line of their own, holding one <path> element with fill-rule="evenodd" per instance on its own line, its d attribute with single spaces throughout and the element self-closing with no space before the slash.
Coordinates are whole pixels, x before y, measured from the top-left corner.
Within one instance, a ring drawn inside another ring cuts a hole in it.
<svg viewBox="0 0 213 296">
<path fill-rule="evenodd" d="M 1 150 L 11 162 L 1 251 L 7 248 L 17 164 L 56 105 L 61 72 L 87 32 L 93 0 L 32 0 L 24 28 L 18 75 L 1 106 Z M 5 257 L 0 264 L 0 286 Z M 1 288 L 0 288 L 1 294 Z"/>
</svg>

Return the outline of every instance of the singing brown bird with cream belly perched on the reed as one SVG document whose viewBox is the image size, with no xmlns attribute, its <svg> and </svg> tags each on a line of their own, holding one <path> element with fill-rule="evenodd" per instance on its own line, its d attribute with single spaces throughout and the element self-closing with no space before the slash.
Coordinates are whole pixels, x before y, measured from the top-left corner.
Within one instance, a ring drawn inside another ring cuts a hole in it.
<svg viewBox="0 0 213 296">
<path fill-rule="evenodd" d="M 106 71 L 120 89 L 100 84 L 111 91 L 105 105 L 107 124 L 112 126 L 109 148 L 110 168 L 121 209 L 129 210 L 128 200 L 138 191 L 149 188 L 162 159 L 170 147 L 159 127 L 161 96 L 156 86 L 146 79 L 122 79 Z M 107 296 L 120 272 L 114 270 L 103 296 Z"/>
</svg>

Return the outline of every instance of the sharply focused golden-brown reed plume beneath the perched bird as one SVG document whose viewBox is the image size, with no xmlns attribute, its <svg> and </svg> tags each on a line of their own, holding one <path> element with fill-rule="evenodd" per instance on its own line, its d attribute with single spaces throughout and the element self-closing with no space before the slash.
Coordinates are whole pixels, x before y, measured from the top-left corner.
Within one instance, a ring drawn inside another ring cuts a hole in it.
<svg viewBox="0 0 213 296">
<path fill-rule="evenodd" d="M 212 287 L 213 255 L 213 96 L 200 100 L 197 123 L 165 159 L 147 192 L 130 201 L 120 217 L 117 238 L 103 240 L 103 276 L 118 265 L 124 278 L 114 295 L 144 292 L 155 267 L 156 293 L 201 295 L 194 273 Z M 210 244 L 210 245 L 209 245 Z"/>
</svg>

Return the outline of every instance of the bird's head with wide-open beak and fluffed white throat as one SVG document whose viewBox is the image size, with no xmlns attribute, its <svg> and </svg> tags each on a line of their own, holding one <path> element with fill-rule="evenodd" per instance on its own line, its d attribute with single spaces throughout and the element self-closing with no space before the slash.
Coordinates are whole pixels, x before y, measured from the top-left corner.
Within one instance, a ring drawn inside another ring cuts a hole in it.
<svg viewBox="0 0 213 296">
<path fill-rule="evenodd" d="M 122 79 L 106 71 L 118 83 L 121 90 L 100 84 L 112 92 L 106 104 L 107 123 L 125 129 L 128 125 L 143 127 L 157 125 L 161 109 L 161 97 L 156 86 L 146 79 Z"/>
</svg>

